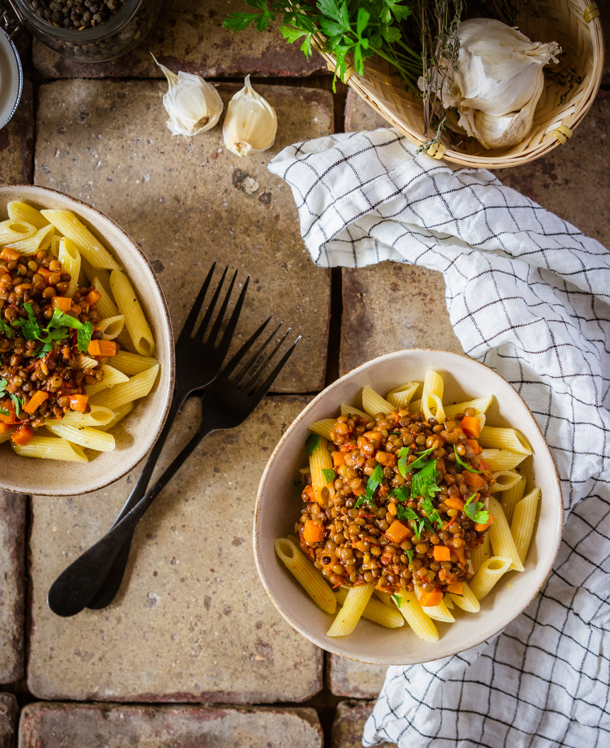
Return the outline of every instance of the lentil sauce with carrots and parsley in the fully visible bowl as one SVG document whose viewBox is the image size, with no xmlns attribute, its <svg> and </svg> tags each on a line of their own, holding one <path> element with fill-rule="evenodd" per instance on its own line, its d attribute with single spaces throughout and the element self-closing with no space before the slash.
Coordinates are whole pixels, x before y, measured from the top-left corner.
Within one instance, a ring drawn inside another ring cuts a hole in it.
<svg viewBox="0 0 610 748">
<path fill-rule="evenodd" d="M 472 408 L 445 423 L 406 408 L 338 417 L 334 476 L 318 500 L 305 474 L 302 550 L 333 586 L 415 589 L 426 607 L 461 594 L 493 521 L 485 502 L 495 479 L 478 458 L 479 432 Z"/>
</svg>

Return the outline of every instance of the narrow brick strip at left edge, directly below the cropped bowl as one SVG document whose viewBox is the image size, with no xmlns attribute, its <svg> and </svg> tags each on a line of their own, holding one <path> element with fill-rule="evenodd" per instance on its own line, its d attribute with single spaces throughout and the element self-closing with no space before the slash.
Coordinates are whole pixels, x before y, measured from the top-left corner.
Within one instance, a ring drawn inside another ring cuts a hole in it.
<svg viewBox="0 0 610 748">
<path fill-rule="evenodd" d="M 23 675 L 26 497 L 0 490 L 0 683 Z"/>
</svg>

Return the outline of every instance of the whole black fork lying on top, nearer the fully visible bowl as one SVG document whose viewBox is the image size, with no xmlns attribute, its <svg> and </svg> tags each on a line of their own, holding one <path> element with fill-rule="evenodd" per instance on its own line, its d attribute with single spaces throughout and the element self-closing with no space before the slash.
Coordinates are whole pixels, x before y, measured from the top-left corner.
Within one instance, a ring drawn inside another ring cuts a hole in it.
<svg viewBox="0 0 610 748">
<path fill-rule="evenodd" d="M 100 589 L 100 585 L 112 569 L 124 543 L 131 539 L 135 525 L 195 447 L 214 431 L 239 426 L 266 395 L 301 339 L 299 335 L 278 363 L 269 370 L 272 360 L 290 333 L 288 328 L 284 336 L 272 346 L 278 332 L 278 328 L 275 328 L 257 351 L 250 355 L 248 361 L 245 361 L 245 356 L 263 334 L 270 319 L 266 319 L 260 325 L 207 388 L 201 399 L 201 424 L 174 462 L 144 497 L 119 518 L 102 539 L 68 566 L 52 584 L 48 597 L 52 610 L 61 610 L 59 615 L 62 616 L 73 616 L 86 607 L 93 592 Z"/>
</svg>

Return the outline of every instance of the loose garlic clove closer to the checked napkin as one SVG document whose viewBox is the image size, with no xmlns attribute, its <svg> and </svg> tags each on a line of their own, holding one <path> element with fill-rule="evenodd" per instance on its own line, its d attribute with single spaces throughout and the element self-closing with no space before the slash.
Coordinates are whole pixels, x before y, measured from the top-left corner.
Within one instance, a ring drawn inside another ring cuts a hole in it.
<svg viewBox="0 0 610 748">
<path fill-rule="evenodd" d="M 222 126 L 225 146 L 237 156 L 260 153 L 275 143 L 278 118 L 275 109 L 254 91 L 250 76 L 245 76 L 244 87 L 237 91 L 227 106 Z"/>
</svg>

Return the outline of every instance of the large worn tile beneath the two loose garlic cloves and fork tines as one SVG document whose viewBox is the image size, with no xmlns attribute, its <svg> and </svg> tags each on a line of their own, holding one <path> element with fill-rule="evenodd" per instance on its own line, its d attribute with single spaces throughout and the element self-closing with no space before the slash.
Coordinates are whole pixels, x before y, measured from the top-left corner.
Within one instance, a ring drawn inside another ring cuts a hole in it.
<svg viewBox="0 0 610 748">
<path fill-rule="evenodd" d="M 272 149 L 240 158 L 221 126 L 194 138 L 165 128 L 162 82 L 58 81 L 40 88 L 35 182 L 103 210 L 153 264 L 180 331 L 213 260 L 251 274 L 241 345 L 270 312 L 303 335 L 280 392 L 323 387 L 330 274 L 303 245 L 290 189 L 267 170 L 287 144 L 332 128 L 326 91 L 257 89 L 278 113 Z M 237 85 L 222 85 L 225 103 Z"/>
</svg>

